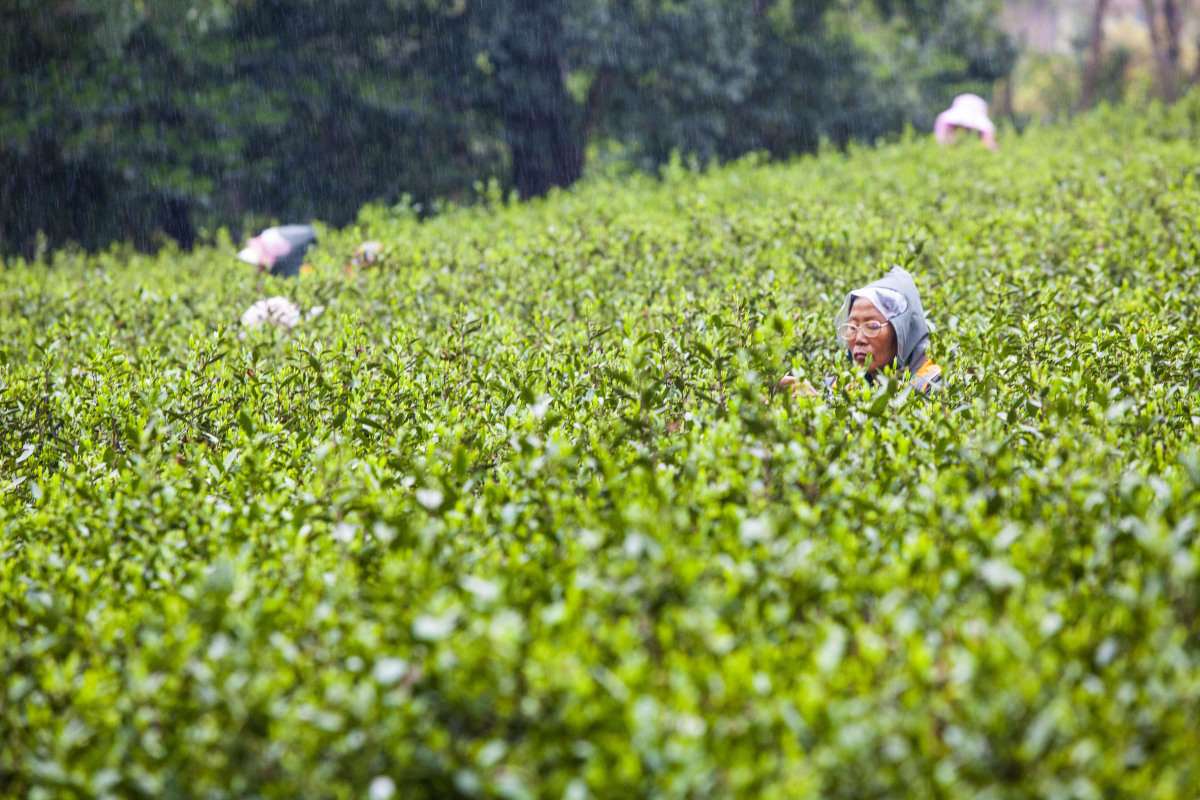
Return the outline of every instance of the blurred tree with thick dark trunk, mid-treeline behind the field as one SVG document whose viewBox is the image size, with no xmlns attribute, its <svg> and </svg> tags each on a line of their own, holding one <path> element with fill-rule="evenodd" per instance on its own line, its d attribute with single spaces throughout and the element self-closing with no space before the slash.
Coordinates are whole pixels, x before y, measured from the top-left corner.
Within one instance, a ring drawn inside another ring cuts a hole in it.
<svg viewBox="0 0 1200 800">
<path fill-rule="evenodd" d="M 672 149 L 712 157 L 749 90 L 754 31 L 740 4 L 697 0 L 470 5 L 522 197 L 580 178 L 596 133 L 650 163 Z"/>
</svg>

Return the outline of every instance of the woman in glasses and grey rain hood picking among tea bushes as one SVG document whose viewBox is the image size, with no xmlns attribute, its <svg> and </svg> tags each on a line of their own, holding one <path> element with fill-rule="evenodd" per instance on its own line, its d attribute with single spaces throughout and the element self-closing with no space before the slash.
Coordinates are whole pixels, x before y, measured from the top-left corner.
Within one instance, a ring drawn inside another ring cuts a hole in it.
<svg viewBox="0 0 1200 800">
<path fill-rule="evenodd" d="M 875 283 L 846 295 L 835 325 L 846 355 L 864 368 L 869 381 L 874 381 L 880 369 L 894 367 L 898 373 L 905 372 L 918 391 L 942 386 L 942 368 L 925 355 L 929 347 L 925 309 L 906 270 L 895 266 Z M 811 384 L 791 375 L 779 385 L 816 393 Z M 827 378 L 826 385 L 832 386 L 833 379 Z"/>
</svg>

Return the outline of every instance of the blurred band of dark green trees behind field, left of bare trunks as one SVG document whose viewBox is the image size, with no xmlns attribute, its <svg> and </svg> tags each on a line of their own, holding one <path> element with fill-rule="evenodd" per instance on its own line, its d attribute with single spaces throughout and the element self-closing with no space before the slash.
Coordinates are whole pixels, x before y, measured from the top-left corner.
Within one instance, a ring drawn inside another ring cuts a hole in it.
<svg viewBox="0 0 1200 800">
<path fill-rule="evenodd" d="M 0 0 L 0 253 L 569 186 L 928 127 L 998 0 Z"/>
</svg>

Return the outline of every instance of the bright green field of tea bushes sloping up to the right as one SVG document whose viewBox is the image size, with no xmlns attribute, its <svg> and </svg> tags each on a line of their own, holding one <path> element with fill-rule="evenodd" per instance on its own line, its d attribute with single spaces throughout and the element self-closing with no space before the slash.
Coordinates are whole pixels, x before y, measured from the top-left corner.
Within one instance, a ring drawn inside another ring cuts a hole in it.
<svg viewBox="0 0 1200 800">
<path fill-rule="evenodd" d="M 366 209 L 293 282 L 8 265 L 0 794 L 1196 796 L 1198 138 Z M 833 339 L 894 263 L 935 396 Z"/>
</svg>

